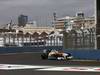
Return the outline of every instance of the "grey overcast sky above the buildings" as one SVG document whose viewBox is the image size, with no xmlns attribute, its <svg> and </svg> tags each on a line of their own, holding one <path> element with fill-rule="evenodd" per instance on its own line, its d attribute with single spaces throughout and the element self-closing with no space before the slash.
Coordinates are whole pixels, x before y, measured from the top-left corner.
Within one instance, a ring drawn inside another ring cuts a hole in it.
<svg viewBox="0 0 100 75">
<path fill-rule="evenodd" d="M 0 0 L 0 24 L 12 19 L 17 23 L 20 14 L 29 16 L 40 25 L 50 24 L 53 12 L 57 17 L 75 16 L 82 11 L 86 16 L 94 15 L 94 0 Z"/>
</svg>

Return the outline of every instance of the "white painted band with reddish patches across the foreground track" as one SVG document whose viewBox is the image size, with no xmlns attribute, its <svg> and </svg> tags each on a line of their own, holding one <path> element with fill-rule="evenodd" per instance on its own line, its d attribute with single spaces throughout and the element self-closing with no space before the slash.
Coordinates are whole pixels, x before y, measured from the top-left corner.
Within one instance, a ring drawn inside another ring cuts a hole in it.
<svg viewBox="0 0 100 75">
<path fill-rule="evenodd" d="M 17 65 L 17 64 L 0 64 L 0 70 L 20 70 L 35 69 L 35 71 L 77 71 L 77 72 L 100 72 L 100 67 L 93 66 L 46 66 L 46 65 Z"/>
</svg>

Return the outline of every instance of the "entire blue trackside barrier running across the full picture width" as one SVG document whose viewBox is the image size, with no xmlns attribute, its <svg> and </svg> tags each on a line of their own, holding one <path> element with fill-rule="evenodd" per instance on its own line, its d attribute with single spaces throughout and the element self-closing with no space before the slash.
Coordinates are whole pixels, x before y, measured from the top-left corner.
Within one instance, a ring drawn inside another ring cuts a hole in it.
<svg viewBox="0 0 100 75">
<path fill-rule="evenodd" d="M 43 47 L 0 47 L 0 54 L 6 53 L 23 53 L 23 52 L 42 52 L 42 50 L 64 50 L 66 53 L 71 53 L 75 59 L 88 59 L 88 60 L 100 60 L 100 50 L 94 49 L 81 49 L 71 50 L 63 49 L 62 46 L 43 46 Z"/>
</svg>

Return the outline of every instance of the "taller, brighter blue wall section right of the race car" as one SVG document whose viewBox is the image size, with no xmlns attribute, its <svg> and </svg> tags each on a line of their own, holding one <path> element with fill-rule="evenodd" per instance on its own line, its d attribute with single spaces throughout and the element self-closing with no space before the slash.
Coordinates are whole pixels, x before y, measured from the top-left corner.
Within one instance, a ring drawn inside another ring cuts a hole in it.
<svg viewBox="0 0 100 75">
<path fill-rule="evenodd" d="M 95 49 L 81 49 L 71 50 L 65 49 L 65 53 L 71 53 L 74 59 L 100 60 L 100 50 Z"/>
</svg>

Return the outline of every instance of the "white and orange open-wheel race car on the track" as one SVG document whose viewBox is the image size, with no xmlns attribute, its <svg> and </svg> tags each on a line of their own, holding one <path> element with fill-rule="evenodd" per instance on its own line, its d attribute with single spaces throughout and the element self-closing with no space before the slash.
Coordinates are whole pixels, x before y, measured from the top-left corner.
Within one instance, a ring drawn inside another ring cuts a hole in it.
<svg viewBox="0 0 100 75">
<path fill-rule="evenodd" d="M 57 50 L 44 50 L 41 54 L 42 59 L 50 60 L 71 60 L 73 56 L 70 53 L 64 53 Z"/>
</svg>

